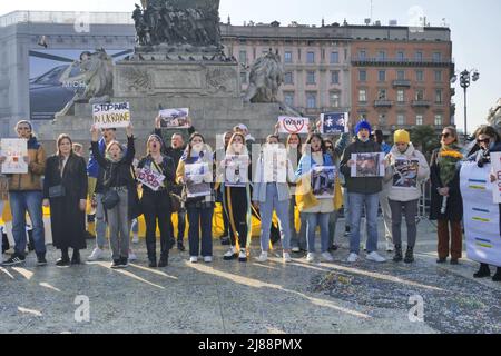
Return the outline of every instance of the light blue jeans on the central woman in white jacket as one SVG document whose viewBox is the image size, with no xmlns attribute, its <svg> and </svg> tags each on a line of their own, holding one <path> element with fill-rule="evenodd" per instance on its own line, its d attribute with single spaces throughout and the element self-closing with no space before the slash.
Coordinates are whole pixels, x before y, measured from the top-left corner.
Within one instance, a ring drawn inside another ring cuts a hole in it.
<svg viewBox="0 0 501 356">
<path fill-rule="evenodd" d="M 291 225 L 288 221 L 288 208 L 291 200 L 278 201 L 276 184 L 266 185 L 266 201 L 259 202 L 261 212 L 261 249 L 269 250 L 269 233 L 272 228 L 273 210 L 276 211 L 281 225 L 282 247 L 291 249 Z"/>
</svg>

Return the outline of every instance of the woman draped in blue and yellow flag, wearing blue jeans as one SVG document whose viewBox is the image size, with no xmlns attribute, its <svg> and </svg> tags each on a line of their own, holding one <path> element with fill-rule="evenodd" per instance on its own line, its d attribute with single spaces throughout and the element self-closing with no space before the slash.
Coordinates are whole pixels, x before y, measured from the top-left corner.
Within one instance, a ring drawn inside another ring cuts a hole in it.
<svg viewBox="0 0 501 356">
<path fill-rule="evenodd" d="M 325 150 L 325 142 L 320 134 L 313 134 L 306 140 L 306 151 L 301 158 L 296 181 L 296 204 L 306 217 L 306 234 L 308 254 L 306 260 L 315 261 L 315 231 L 321 228 L 322 259 L 334 261 L 328 253 L 328 220 L 334 210 L 338 210 L 343 205 L 343 194 L 341 184 L 335 175 L 330 174 L 325 168 L 335 168 L 332 156 Z M 324 188 L 334 190 L 334 196 L 324 197 Z"/>
</svg>

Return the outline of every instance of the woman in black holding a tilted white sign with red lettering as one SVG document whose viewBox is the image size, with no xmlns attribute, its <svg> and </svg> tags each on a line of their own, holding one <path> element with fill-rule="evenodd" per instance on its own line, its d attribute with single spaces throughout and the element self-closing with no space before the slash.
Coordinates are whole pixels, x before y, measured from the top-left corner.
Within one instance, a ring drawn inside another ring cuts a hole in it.
<svg viewBox="0 0 501 356">
<path fill-rule="evenodd" d="M 166 267 L 169 260 L 169 243 L 171 239 L 171 229 L 169 221 L 173 209 L 170 206 L 170 189 L 175 178 L 174 160 L 161 154 L 164 141 L 157 135 L 151 135 L 146 144 L 147 155 L 144 157 L 136 169 L 136 176 L 139 177 L 145 170 L 163 177 L 157 185 L 143 182 L 143 197 L 140 206 L 146 221 L 146 249 L 148 253 L 149 267 Z M 141 180 L 139 179 L 139 182 Z M 158 222 L 157 222 L 158 221 Z M 157 263 L 157 224 L 160 230 L 160 260 Z"/>
</svg>

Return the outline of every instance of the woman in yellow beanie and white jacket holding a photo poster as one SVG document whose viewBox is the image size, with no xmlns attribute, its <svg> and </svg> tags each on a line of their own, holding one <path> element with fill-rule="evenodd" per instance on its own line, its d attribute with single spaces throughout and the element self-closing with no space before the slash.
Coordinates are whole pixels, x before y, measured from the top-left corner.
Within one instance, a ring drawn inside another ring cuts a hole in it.
<svg viewBox="0 0 501 356">
<path fill-rule="evenodd" d="M 391 152 L 386 156 L 389 168 L 385 182 L 390 186 L 390 207 L 392 209 L 392 234 L 395 244 L 393 261 L 402 261 L 402 212 L 405 211 L 407 225 L 407 250 L 404 263 L 414 261 L 414 246 L 418 236 L 416 216 L 418 202 L 421 198 L 421 184 L 430 178 L 430 166 L 423 154 L 411 142 L 411 136 L 405 130 L 394 134 Z"/>
</svg>

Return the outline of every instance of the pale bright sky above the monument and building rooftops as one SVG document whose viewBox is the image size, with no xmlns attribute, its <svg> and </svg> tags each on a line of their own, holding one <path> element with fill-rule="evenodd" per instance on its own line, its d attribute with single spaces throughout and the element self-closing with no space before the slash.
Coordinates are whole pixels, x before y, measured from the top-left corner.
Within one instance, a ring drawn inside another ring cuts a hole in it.
<svg viewBox="0 0 501 356">
<path fill-rule="evenodd" d="M 17 0 L 0 1 L 0 14 L 16 10 L 46 11 L 132 11 L 139 0 Z M 484 122 L 488 109 L 501 98 L 501 1 L 477 0 L 373 0 L 373 20 L 387 23 L 397 20 L 409 24 L 416 13 L 424 13 L 432 26 L 446 23 L 452 30 L 453 57 L 456 70 L 478 68 L 481 79 L 469 90 L 469 130 Z M 282 24 L 297 21 L 320 26 L 343 22 L 361 24 L 371 17 L 371 0 L 220 0 L 220 17 L 232 23 L 244 21 L 272 22 Z M 454 101 L 458 106 L 456 123 L 463 129 L 463 95 L 459 87 Z"/>
</svg>

